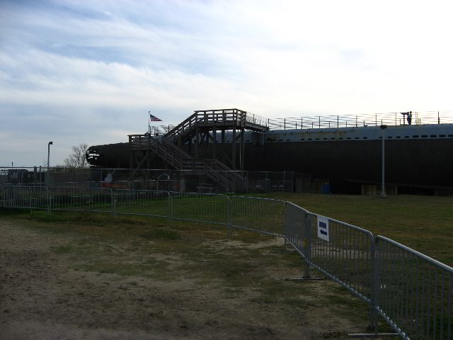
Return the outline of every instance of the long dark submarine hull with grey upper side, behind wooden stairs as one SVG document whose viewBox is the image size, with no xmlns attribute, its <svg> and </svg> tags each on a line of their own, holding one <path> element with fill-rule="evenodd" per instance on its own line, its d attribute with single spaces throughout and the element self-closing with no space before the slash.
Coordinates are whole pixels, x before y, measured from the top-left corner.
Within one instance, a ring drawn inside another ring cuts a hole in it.
<svg viewBox="0 0 453 340">
<path fill-rule="evenodd" d="M 383 133 L 386 183 L 400 193 L 453 188 L 453 124 L 246 132 L 243 169 L 311 174 L 331 183 L 333 192 L 360 193 L 363 184 L 379 185 L 382 179 Z M 200 156 L 209 157 L 211 147 Z M 226 148 L 231 149 L 228 133 Z M 93 166 L 130 167 L 128 143 L 90 150 L 100 154 L 88 159 Z M 163 165 L 158 159 L 155 164 Z"/>
</svg>

